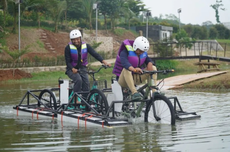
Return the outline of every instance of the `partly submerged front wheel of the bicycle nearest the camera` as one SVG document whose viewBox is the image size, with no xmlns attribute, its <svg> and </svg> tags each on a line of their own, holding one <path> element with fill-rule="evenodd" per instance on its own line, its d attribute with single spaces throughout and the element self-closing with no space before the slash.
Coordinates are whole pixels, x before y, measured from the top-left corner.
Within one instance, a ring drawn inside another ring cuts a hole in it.
<svg viewBox="0 0 230 152">
<path fill-rule="evenodd" d="M 171 101 L 164 95 L 155 94 L 147 103 L 145 122 L 175 125 L 175 112 Z"/>
</svg>

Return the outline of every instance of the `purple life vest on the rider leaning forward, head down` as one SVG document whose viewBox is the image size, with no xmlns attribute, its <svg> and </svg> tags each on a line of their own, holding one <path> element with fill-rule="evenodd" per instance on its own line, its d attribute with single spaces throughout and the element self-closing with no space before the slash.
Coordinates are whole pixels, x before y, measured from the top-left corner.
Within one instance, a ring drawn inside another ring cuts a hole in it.
<svg viewBox="0 0 230 152">
<path fill-rule="evenodd" d="M 133 40 L 124 40 L 120 46 L 120 49 L 117 54 L 116 62 L 113 68 L 113 74 L 116 76 L 120 76 L 122 69 L 124 68 L 121 64 L 120 54 L 121 51 L 127 50 L 128 51 L 128 61 L 134 67 L 141 67 L 146 60 L 147 52 L 142 53 L 139 57 L 137 56 L 136 52 L 133 50 Z"/>
</svg>

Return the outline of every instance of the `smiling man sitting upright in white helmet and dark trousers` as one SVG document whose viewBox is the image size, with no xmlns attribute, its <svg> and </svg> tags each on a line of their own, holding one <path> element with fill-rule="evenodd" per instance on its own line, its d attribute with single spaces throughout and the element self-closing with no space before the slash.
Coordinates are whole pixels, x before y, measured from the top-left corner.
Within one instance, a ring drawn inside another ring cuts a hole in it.
<svg viewBox="0 0 230 152">
<path fill-rule="evenodd" d="M 111 64 L 108 64 L 89 44 L 82 42 L 82 34 L 78 29 L 72 30 L 69 38 L 71 42 L 65 47 L 65 73 L 74 82 L 74 92 L 89 91 L 86 68 L 88 53 L 107 66 L 111 66 Z"/>
</svg>

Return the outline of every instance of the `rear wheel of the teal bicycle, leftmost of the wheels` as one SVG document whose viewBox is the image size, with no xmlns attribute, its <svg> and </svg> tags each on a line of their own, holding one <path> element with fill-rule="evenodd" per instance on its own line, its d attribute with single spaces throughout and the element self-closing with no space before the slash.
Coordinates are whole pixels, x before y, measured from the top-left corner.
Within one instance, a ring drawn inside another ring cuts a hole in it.
<svg viewBox="0 0 230 152">
<path fill-rule="evenodd" d="M 56 98 L 52 91 L 48 89 L 42 90 L 38 99 L 40 100 L 40 102 L 38 102 L 38 107 L 46 105 L 50 109 L 57 110 Z"/>
</svg>

